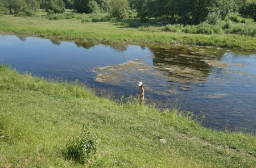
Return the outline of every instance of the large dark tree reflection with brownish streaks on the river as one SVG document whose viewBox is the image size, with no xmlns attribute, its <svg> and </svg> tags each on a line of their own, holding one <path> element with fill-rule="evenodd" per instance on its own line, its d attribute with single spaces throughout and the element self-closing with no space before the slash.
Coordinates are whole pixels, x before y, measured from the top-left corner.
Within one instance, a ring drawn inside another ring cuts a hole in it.
<svg viewBox="0 0 256 168">
<path fill-rule="evenodd" d="M 205 60 L 213 59 L 204 50 L 189 51 L 184 48 L 150 48 L 154 53 L 155 69 L 168 74 L 169 81 L 194 83 L 207 81 L 211 66 Z"/>
</svg>

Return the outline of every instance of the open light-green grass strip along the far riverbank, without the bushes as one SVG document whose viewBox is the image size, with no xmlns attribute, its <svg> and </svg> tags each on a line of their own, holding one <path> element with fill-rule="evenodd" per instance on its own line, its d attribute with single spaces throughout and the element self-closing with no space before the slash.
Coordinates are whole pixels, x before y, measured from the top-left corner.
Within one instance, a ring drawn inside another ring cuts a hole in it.
<svg viewBox="0 0 256 168">
<path fill-rule="evenodd" d="M 223 48 L 256 50 L 254 36 L 213 33 L 211 35 L 170 32 L 172 27 L 131 27 L 126 23 L 81 22 L 81 18 L 48 20 L 39 13 L 33 18 L 0 16 L 0 33 L 43 36 L 63 40 L 88 40 L 93 43 L 148 43 L 212 45 Z M 134 24 L 134 23 L 133 23 Z M 192 27 L 191 27 L 192 28 Z M 168 31 L 160 31 L 167 29 Z M 187 28 L 188 29 L 188 28 Z"/>
</svg>

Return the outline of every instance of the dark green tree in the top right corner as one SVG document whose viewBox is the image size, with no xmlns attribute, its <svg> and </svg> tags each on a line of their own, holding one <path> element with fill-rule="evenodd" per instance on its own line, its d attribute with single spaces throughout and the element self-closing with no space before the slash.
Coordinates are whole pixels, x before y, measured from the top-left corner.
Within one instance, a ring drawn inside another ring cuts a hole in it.
<svg viewBox="0 0 256 168">
<path fill-rule="evenodd" d="M 239 10 L 240 14 L 246 18 L 253 18 L 256 22 L 256 0 L 245 0 Z"/>
</svg>

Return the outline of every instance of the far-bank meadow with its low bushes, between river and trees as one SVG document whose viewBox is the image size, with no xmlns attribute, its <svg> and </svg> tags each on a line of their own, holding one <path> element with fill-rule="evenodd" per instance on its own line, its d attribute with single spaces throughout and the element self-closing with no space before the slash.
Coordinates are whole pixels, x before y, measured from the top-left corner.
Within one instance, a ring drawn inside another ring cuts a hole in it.
<svg viewBox="0 0 256 168">
<path fill-rule="evenodd" d="M 47 16 L 36 12 L 33 17 L 0 15 L 0 33 L 41 36 L 60 40 L 82 40 L 93 43 L 185 44 L 221 48 L 256 50 L 255 23 L 230 16 L 216 25 L 161 25 L 139 19 L 106 22 L 102 14 L 64 14 Z"/>
</svg>

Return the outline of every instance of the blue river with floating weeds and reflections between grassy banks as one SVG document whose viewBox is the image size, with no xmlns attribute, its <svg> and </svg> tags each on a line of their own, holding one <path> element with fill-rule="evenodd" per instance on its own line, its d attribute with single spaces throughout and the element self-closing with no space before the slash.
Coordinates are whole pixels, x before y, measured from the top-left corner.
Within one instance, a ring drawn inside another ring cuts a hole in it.
<svg viewBox="0 0 256 168">
<path fill-rule="evenodd" d="M 180 45 L 94 45 L 0 35 L 0 64 L 47 79 L 79 80 L 98 95 L 137 95 L 180 107 L 202 125 L 256 132 L 256 54 Z"/>
</svg>

